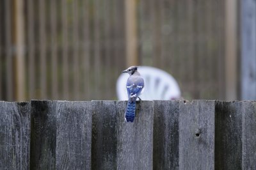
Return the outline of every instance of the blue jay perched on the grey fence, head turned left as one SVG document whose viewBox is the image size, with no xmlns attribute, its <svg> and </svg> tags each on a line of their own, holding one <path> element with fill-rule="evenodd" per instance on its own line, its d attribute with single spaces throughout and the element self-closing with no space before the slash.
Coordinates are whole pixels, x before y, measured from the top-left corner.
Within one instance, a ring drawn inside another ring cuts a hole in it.
<svg viewBox="0 0 256 170">
<path fill-rule="evenodd" d="M 138 66 L 131 66 L 124 70 L 123 73 L 129 73 L 129 78 L 126 83 L 126 90 L 128 94 L 128 104 L 125 111 L 125 120 L 127 122 L 133 121 L 135 117 L 136 99 L 142 93 L 144 88 L 144 80 L 137 71 Z M 140 99 L 141 100 L 141 99 Z"/>
</svg>

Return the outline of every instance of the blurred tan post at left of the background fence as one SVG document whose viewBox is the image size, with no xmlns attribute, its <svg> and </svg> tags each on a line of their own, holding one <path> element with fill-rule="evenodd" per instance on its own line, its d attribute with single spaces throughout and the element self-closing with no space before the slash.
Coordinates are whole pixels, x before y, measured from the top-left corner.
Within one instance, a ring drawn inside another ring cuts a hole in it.
<svg viewBox="0 0 256 170">
<path fill-rule="evenodd" d="M 24 43 L 24 1 L 15 0 L 14 5 L 14 44 L 15 51 L 15 100 L 25 100 L 25 43 Z"/>
</svg>

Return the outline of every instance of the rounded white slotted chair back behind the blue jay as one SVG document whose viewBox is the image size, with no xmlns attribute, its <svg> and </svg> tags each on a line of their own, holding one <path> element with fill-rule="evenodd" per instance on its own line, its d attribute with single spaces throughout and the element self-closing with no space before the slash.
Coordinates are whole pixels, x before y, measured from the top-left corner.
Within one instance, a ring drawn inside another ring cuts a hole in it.
<svg viewBox="0 0 256 170">
<path fill-rule="evenodd" d="M 167 72 L 152 66 L 139 66 L 138 72 L 144 79 L 141 100 L 171 100 L 180 98 L 180 88 L 175 79 Z M 128 73 L 122 73 L 116 82 L 118 100 L 128 100 L 126 82 Z"/>
</svg>

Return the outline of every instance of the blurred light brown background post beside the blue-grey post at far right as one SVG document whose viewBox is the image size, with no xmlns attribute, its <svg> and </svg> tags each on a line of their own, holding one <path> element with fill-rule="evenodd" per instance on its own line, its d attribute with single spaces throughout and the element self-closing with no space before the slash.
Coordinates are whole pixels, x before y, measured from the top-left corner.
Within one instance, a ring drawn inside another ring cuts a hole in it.
<svg viewBox="0 0 256 170">
<path fill-rule="evenodd" d="M 237 99 L 237 1 L 225 1 L 226 100 Z M 255 30 L 254 30 L 255 31 Z M 256 64 L 255 64 L 256 65 Z M 256 67 L 255 67 L 256 68 Z M 255 70 L 256 71 L 256 70 Z M 256 89 L 256 86 L 255 86 Z M 256 95 L 256 94 L 255 94 Z"/>
</svg>

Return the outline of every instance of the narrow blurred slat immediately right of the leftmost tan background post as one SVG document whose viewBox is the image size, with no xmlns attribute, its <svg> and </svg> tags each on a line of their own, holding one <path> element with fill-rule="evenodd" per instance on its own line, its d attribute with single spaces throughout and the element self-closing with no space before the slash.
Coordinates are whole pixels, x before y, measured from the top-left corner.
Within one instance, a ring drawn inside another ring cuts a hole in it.
<svg viewBox="0 0 256 170">
<path fill-rule="evenodd" d="M 28 0 L 28 72 L 29 72 L 29 99 L 35 97 L 35 32 L 34 32 L 34 1 Z"/>
</svg>

